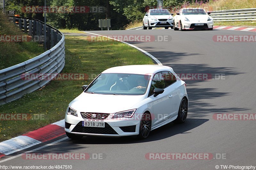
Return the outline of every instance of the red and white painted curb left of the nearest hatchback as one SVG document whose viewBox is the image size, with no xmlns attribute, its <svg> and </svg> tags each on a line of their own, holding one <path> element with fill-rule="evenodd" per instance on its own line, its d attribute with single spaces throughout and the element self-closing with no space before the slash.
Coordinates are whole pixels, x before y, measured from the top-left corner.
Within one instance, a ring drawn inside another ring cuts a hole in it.
<svg viewBox="0 0 256 170">
<path fill-rule="evenodd" d="M 48 124 L 35 131 L 0 142 L 0 158 L 65 134 L 65 120 Z"/>
</svg>

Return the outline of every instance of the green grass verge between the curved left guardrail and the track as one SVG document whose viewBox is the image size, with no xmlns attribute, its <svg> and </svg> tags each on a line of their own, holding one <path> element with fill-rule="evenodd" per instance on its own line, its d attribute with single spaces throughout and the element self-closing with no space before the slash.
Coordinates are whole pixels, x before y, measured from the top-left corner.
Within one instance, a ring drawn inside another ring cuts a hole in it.
<svg viewBox="0 0 256 170">
<path fill-rule="evenodd" d="M 154 64 L 140 51 L 117 41 L 92 42 L 85 36 L 66 36 L 66 64 L 62 73 L 85 73 L 88 80 L 53 80 L 44 88 L 0 106 L 0 141 L 33 131 L 65 117 L 68 103 L 103 70 L 122 65 Z M 6 113 L 28 113 L 30 120 L 3 120 Z M 36 120 L 38 114 L 41 118 Z"/>
</svg>

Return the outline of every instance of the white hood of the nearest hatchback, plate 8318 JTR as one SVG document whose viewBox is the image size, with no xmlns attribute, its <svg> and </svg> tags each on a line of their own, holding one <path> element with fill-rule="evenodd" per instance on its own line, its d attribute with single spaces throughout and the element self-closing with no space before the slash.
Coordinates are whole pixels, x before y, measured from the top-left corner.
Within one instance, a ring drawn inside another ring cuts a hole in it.
<svg viewBox="0 0 256 170">
<path fill-rule="evenodd" d="M 101 95 L 83 92 L 69 106 L 78 112 L 116 113 L 137 109 L 132 107 L 145 98 L 145 95 Z"/>
</svg>

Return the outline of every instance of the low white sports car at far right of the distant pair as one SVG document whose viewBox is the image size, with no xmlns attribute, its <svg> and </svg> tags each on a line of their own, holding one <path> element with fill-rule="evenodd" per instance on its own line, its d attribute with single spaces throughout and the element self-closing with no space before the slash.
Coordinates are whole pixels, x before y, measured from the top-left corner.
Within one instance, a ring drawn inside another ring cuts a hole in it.
<svg viewBox="0 0 256 170">
<path fill-rule="evenodd" d="M 213 18 L 202 8 L 182 8 L 174 16 L 174 30 L 212 30 Z"/>
</svg>

